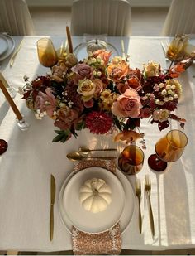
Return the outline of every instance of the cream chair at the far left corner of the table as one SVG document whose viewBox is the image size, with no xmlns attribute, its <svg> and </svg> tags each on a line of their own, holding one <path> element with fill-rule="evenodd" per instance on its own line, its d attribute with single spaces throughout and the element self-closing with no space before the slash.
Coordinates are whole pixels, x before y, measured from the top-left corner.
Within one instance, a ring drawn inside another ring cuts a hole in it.
<svg viewBox="0 0 195 256">
<path fill-rule="evenodd" d="M 7 32 L 12 36 L 35 35 L 25 0 L 0 0 L 0 32 Z"/>
</svg>

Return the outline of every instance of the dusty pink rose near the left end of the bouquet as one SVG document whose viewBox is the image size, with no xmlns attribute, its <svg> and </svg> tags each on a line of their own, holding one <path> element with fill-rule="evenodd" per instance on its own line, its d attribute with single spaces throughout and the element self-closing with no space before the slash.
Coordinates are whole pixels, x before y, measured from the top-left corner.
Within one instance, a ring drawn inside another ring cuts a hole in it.
<svg viewBox="0 0 195 256">
<path fill-rule="evenodd" d="M 45 93 L 39 91 L 39 94 L 36 96 L 35 107 L 40 109 L 41 112 L 46 111 L 49 117 L 52 118 L 56 108 L 56 99 L 54 94 L 52 94 L 52 89 L 45 89 Z"/>
</svg>

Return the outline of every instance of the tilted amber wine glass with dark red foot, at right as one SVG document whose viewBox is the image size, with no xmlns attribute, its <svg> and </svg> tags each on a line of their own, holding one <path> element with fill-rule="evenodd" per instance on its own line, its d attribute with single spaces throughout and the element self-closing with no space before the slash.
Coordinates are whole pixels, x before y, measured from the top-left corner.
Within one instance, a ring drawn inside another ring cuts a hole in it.
<svg viewBox="0 0 195 256">
<path fill-rule="evenodd" d="M 188 144 L 188 138 L 180 130 L 171 130 L 155 144 L 155 154 L 148 158 L 148 164 L 154 171 L 164 171 L 168 162 L 177 161 Z"/>
</svg>

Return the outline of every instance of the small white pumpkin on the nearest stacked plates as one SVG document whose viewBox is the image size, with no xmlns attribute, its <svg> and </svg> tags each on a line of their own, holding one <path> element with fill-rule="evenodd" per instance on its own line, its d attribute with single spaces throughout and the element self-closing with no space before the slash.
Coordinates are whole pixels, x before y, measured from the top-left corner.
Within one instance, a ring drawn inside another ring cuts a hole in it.
<svg viewBox="0 0 195 256">
<path fill-rule="evenodd" d="M 79 199 L 84 210 L 93 213 L 106 210 L 112 201 L 112 190 L 105 181 L 98 178 L 85 181 L 79 191 Z"/>
</svg>

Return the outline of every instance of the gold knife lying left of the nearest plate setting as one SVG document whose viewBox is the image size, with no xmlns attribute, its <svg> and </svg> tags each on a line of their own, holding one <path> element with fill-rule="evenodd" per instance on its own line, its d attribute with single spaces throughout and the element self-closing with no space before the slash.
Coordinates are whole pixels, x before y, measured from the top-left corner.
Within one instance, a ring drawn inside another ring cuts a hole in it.
<svg viewBox="0 0 195 256">
<path fill-rule="evenodd" d="M 54 235 L 55 177 L 50 175 L 50 241 Z"/>
</svg>

